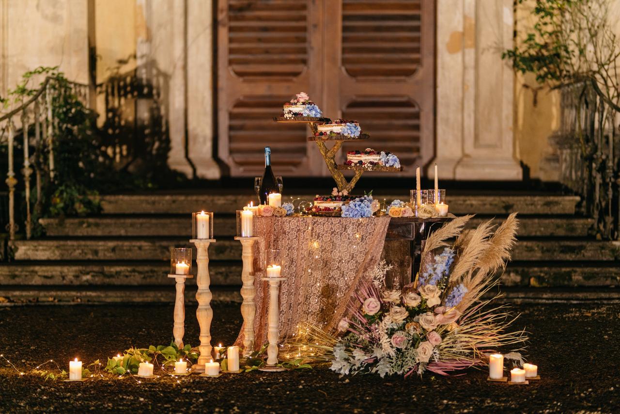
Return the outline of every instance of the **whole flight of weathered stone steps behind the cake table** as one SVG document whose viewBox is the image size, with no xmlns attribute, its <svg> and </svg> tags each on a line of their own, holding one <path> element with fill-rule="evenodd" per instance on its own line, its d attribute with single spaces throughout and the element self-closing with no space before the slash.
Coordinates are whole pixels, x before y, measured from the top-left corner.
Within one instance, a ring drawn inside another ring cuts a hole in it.
<svg viewBox="0 0 620 414">
<path fill-rule="evenodd" d="M 0 300 L 171 302 L 169 248 L 189 245 L 190 213 L 201 209 L 215 211 L 218 241 L 210 246 L 214 300 L 240 300 L 241 245 L 232 239 L 234 210 L 249 199 L 209 194 L 104 196 L 104 211 L 98 217 L 42 218 L 45 238 L 8 243 L 9 261 L 0 264 Z M 565 289 L 569 287 L 583 291 L 618 286 L 620 245 L 591 236 L 593 222 L 575 213 L 577 202 L 578 197 L 549 195 L 449 198 L 454 214 L 477 214 L 472 226 L 520 213 L 519 243 L 502 281 L 508 290 L 520 292 L 515 297 L 525 299 L 570 296 L 574 289 Z M 188 299 L 193 299 L 194 290 L 195 279 L 190 279 Z"/>
</svg>

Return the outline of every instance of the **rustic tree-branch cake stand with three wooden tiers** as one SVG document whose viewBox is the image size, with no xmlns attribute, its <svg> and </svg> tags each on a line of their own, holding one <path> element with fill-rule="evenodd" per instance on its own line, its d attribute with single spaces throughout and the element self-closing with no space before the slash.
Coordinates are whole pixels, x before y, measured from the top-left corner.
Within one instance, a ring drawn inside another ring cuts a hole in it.
<svg viewBox="0 0 620 414">
<path fill-rule="evenodd" d="M 348 137 L 347 135 L 321 135 L 316 136 L 317 125 L 321 125 L 325 123 L 324 118 L 312 118 L 312 117 L 293 117 L 293 119 L 285 119 L 284 117 L 274 117 L 273 120 L 275 122 L 285 122 L 285 123 L 295 123 L 295 124 L 308 124 L 310 129 L 312 130 L 312 137 L 308 137 L 308 141 L 316 142 L 316 145 L 319 147 L 319 151 L 323 156 L 323 160 L 325 160 L 325 164 L 327 164 L 327 169 L 332 174 L 332 178 L 336 182 L 336 186 L 339 191 L 347 191 L 350 193 L 353 191 L 353 187 L 357 184 L 358 180 L 361 178 L 361 174 L 364 171 L 381 171 L 381 172 L 390 172 L 394 173 L 397 171 L 402 171 L 402 167 L 386 167 L 386 166 L 373 166 L 373 167 L 365 167 L 365 166 L 356 166 L 356 165 L 338 165 L 336 163 L 336 154 L 340 151 L 342 147 L 342 143 L 345 141 L 362 141 L 368 140 L 370 135 L 362 133 L 359 137 Z M 334 146 L 332 148 L 327 148 L 325 142 L 333 142 Z M 355 171 L 353 174 L 353 178 L 351 181 L 347 181 L 344 174 L 342 174 L 341 170 L 352 170 Z"/>
</svg>

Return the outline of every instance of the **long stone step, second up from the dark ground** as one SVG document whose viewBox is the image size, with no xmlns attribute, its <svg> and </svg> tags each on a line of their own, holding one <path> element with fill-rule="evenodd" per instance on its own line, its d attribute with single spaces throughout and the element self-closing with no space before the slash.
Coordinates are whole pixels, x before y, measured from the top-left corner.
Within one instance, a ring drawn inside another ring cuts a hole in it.
<svg viewBox="0 0 620 414">
<path fill-rule="evenodd" d="M 195 272 L 195 268 L 193 269 Z M 0 265 L 0 286 L 172 286 L 167 264 L 145 263 L 19 263 Z M 211 262 L 212 286 L 241 286 L 241 265 Z M 195 285 L 188 279 L 188 286 Z M 502 275 L 505 286 L 603 287 L 620 284 L 620 268 L 615 263 L 513 262 Z"/>
</svg>

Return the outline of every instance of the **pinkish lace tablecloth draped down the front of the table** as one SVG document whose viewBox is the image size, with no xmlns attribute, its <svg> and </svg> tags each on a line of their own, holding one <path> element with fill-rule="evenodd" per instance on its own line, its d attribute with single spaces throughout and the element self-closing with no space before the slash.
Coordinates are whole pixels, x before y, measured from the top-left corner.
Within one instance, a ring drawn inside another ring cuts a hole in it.
<svg viewBox="0 0 620 414">
<path fill-rule="evenodd" d="M 265 252 L 281 253 L 280 338 L 296 332 L 300 322 L 334 330 L 353 292 L 376 268 L 383 251 L 389 216 L 255 217 L 255 348 L 267 342 L 268 284 Z M 243 328 L 236 344 L 242 344 Z"/>
</svg>

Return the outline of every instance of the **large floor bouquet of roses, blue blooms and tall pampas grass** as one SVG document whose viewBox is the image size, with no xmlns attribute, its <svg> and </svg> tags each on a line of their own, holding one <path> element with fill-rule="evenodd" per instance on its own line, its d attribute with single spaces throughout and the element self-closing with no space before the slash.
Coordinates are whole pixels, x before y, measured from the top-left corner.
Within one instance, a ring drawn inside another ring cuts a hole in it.
<svg viewBox="0 0 620 414">
<path fill-rule="evenodd" d="M 306 326 L 287 343 L 288 351 L 297 358 L 327 359 L 340 374 L 407 377 L 483 366 L 497 348 L 522 346 L 525 332 L 507 331 L 513 321 L 510 313 L 503 307 L 486 309 L 492 299 L 482 299 L 510 258 L 516 215 L 497 229 L 489 220 L 464 232 L 471 217 L 456 218 L 428 236 L 422 270 L 412 284 L 386 287 L 387 268 L 380 264 L 383 270 L 356 292 L 337 334 Z M 521 359 L 518 352 L 508 356 Z"/>
</svg>

